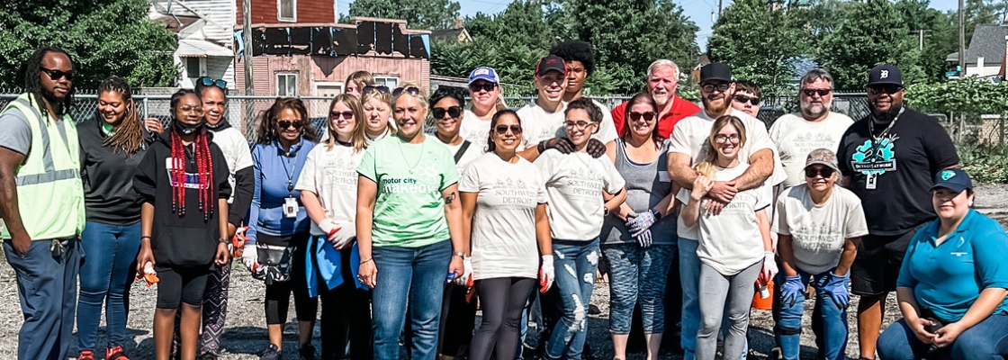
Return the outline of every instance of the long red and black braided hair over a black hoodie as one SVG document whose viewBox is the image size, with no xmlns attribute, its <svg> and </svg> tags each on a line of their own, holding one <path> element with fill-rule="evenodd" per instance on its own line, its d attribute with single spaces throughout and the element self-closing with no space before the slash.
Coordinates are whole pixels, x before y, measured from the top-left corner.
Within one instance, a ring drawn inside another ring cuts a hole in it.
<svg viewBox="0 0 1008 360">
<path fill-rule="evenodd" d="M 171 96 L 172 122 L 179 121 L 178 103 L 185 96 L 192 95 L 199 99 L 192 90 L 182 89 Z M 201 103 L 200 109 L 203 109 Z M 179 134 L 179 127 L 172 126 L 171 131 L 171 212 L 177 213 L 178 217 L 185 216 L 185 189 L 186 177 L 191 175 L 185 172 L 186 158 L 185 145 Z M 194 157 L 197 165 L 196 182 L 200 191 L 200 211 L 203 212 L 203 220 L 208 221 L 214 215 L 214 160 L 210 155 L 210 139 L 207 136 L 207 129 L 201 127 L 197 133 L 196 140 L 193 141 Z"/>
</svg>

